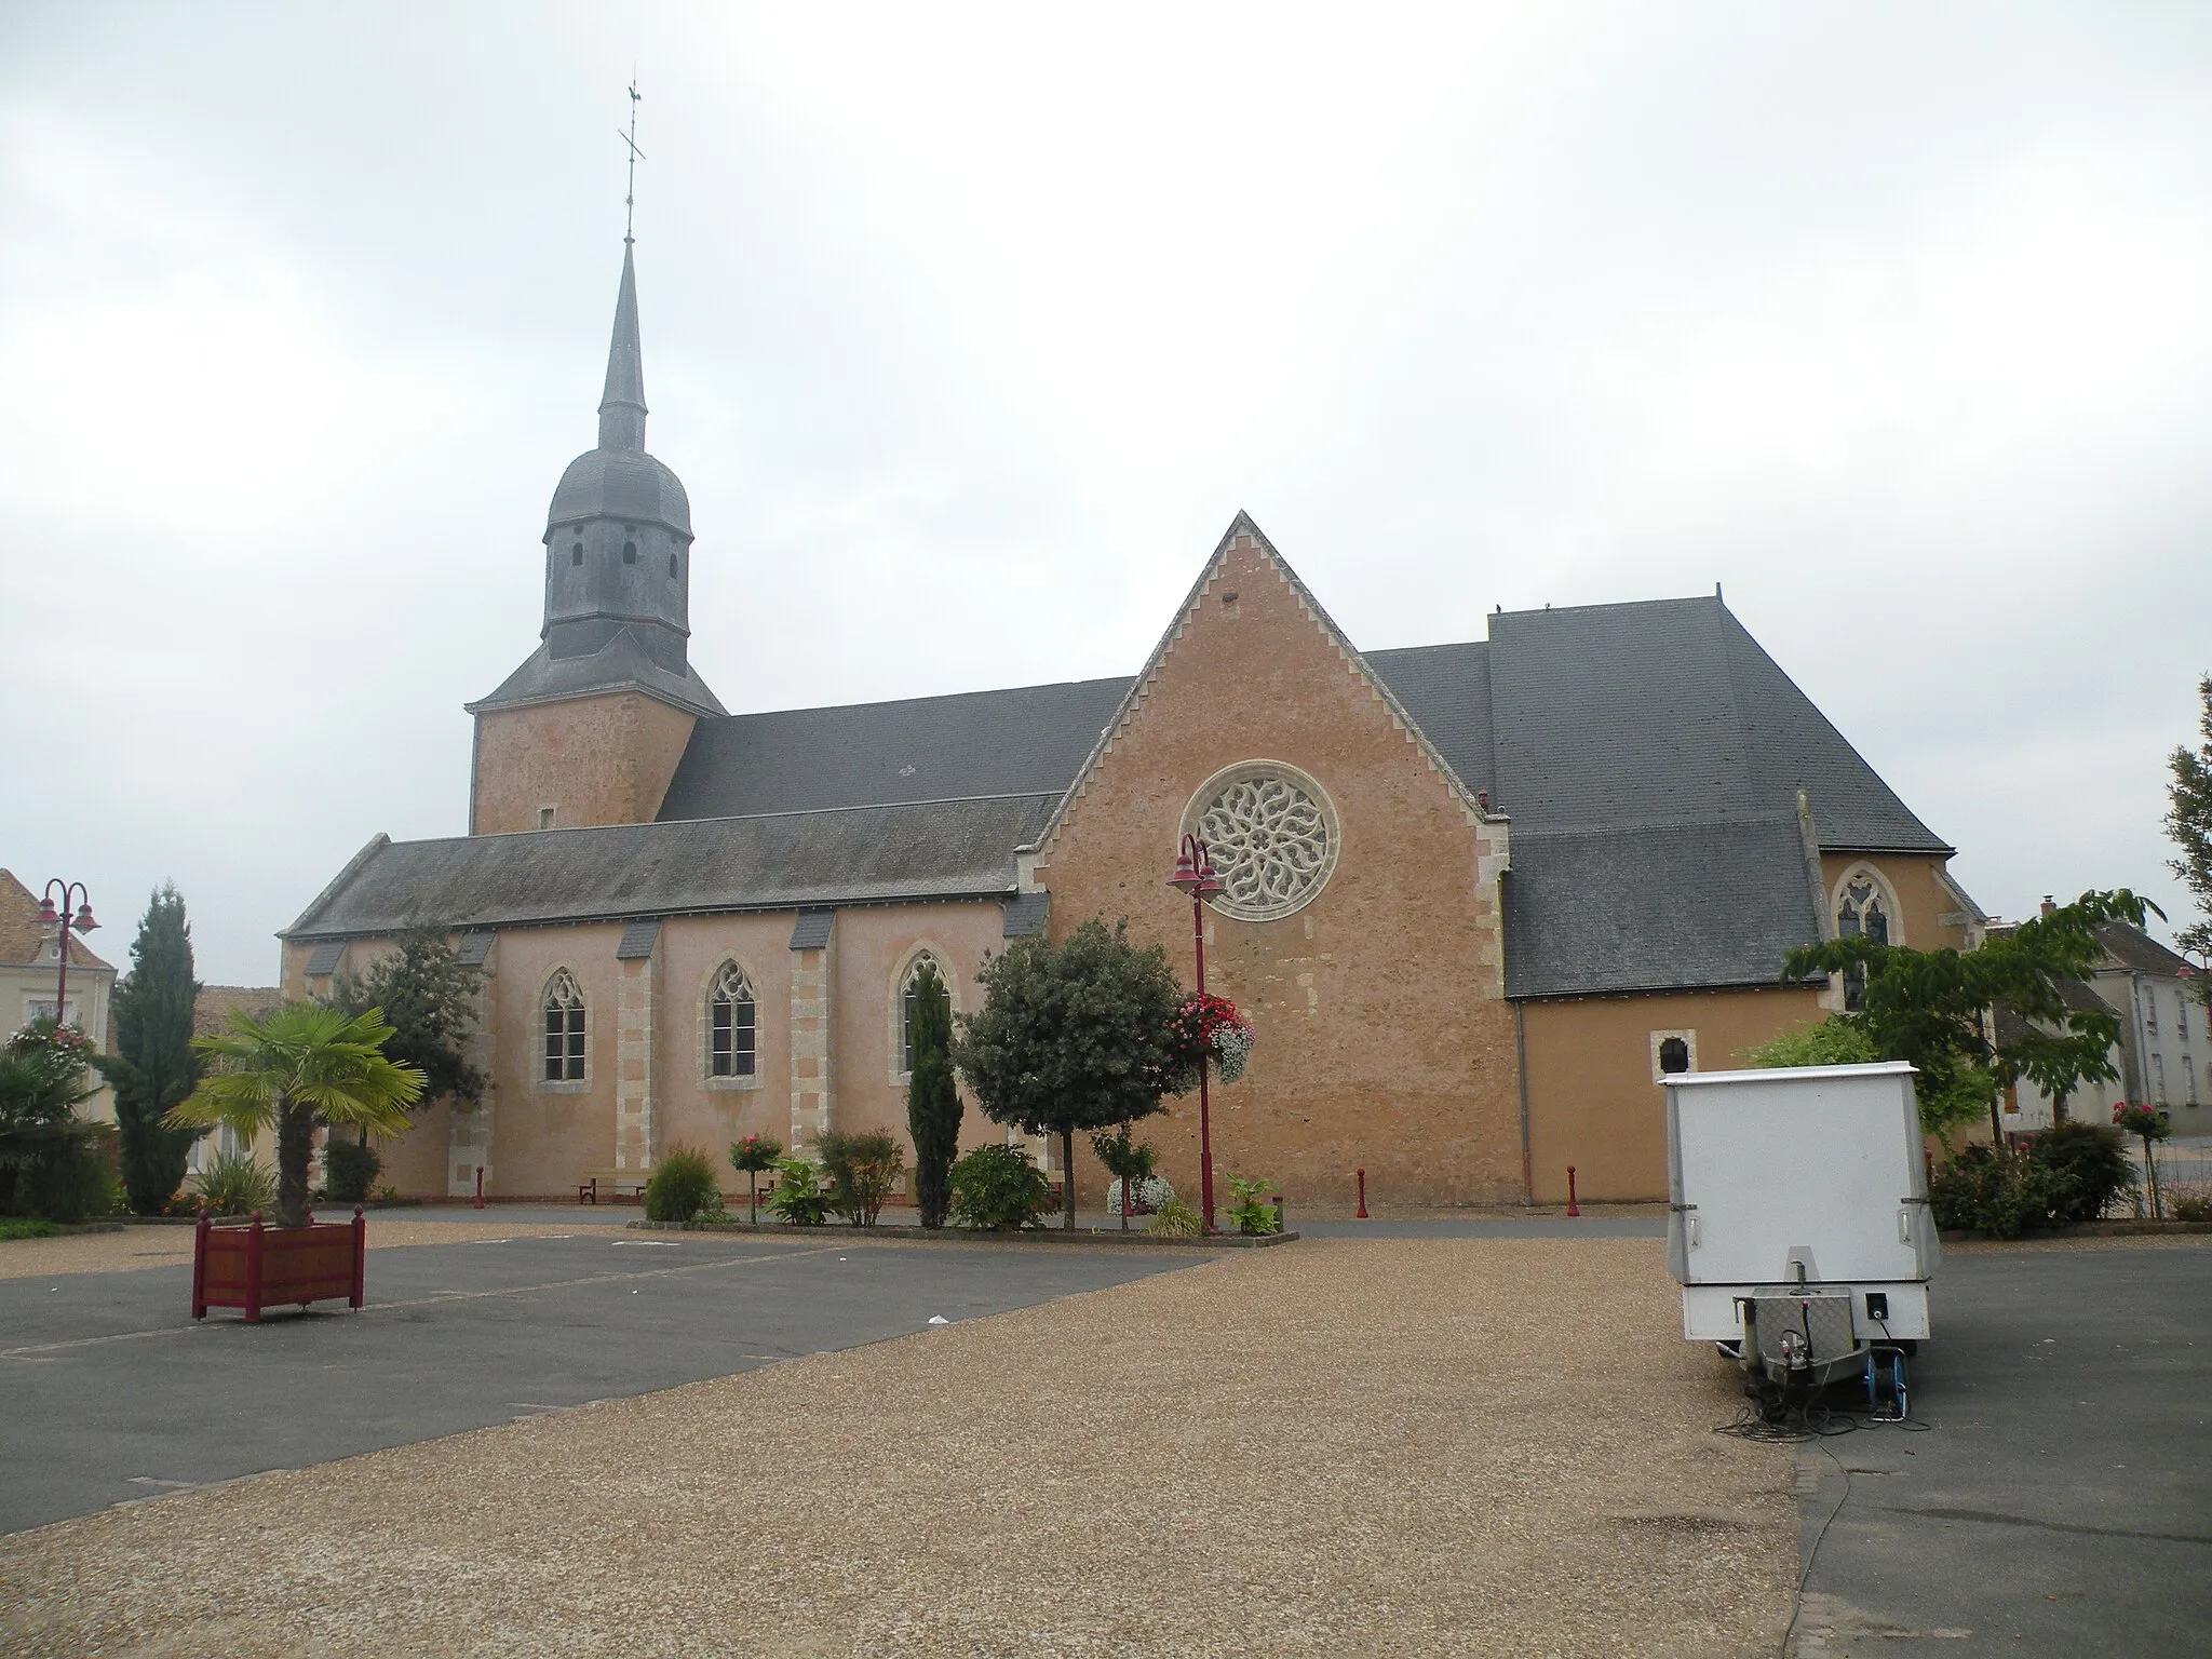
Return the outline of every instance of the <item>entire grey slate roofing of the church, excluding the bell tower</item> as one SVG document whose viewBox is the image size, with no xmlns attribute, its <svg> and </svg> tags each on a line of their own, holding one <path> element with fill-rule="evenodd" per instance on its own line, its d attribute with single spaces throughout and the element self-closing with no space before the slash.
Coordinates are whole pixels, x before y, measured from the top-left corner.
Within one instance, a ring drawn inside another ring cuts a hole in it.
<svg viewBox="0 0 2212 1659">
<path fill-rule="evenodd" d="M 1774 984 L 1820 931 L 1801 787 L 1823 849 L 1951 852 L 1719 595 L 1498 613 L 1365 661 L 1509 816 L 1513 998 Z M 708 717 L 657 823 L 372 849 L 292 931 L 1011 896 L 1130 686 Z M 1009 909 L 1009 938 L 1033 925 Z"/>
</svg>

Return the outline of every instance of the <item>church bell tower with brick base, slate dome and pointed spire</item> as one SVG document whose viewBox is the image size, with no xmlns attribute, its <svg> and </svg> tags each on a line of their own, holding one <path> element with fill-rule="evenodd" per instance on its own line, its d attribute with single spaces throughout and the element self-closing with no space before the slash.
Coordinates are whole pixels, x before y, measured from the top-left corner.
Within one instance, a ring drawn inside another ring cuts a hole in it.
<svg viewBox="0 0 2212 1659">
<path fill-rule="evenodd" d="M 648 823 L 701 714 L 690 666 L 690 498 L 646 453 L 637 248 L 622 239 L 599 442 L 546 509 L 538 650 L 476 703 L 469 834 Z"/>
</svg>

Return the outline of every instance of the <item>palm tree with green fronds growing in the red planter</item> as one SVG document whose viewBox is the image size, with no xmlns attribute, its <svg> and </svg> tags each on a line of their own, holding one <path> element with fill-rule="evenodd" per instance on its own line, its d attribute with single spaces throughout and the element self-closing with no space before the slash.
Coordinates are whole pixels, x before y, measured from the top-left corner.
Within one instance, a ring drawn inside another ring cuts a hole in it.
<svg viewBox="0 0 2212 1659">
<path fill-rule="evenodd" d="M 274 1124 L 276 1225 L 303 1228 L 316 1119 L 398 1135 L 422 1095 L 422 1073 L 385 1057 L 389 1035 L 383 1009 L 343 1013 L 321 1002 L 288 1002 L 261 1020 L 232 1013 L 230 1031 L 192 1040 L 215 1064 L 161 1121 L 230 1124 L 246 1135 Z"/>
</svg>

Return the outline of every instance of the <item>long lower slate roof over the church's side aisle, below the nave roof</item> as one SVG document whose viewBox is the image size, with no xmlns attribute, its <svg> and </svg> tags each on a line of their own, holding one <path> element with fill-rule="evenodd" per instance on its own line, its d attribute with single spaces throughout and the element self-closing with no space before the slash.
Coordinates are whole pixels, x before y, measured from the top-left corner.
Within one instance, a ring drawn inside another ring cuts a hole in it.
<svg viewBox="0 0 2212 1659">
<path fill-rule="evenodd" d="M 396 841 L 285 938 L 816 909 L 1013 891 L 1051 794 Z"/>
</svg>

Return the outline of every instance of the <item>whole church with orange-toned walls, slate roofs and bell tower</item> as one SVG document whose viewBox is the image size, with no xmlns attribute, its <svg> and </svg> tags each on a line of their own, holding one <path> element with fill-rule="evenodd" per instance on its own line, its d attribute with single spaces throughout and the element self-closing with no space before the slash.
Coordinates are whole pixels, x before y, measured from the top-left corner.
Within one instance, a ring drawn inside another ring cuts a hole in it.
<svg viewBox="0 0 2212 1659">
<path fill-rule="evenodd" d="M 991 951 L 1104 916 L 1188 982 L 1186 832 L 1225 880 L 1208 989 L 1256 1031 L 1217 1168 L 1294 1206 L 1349 1203 L 1360 1168 L 1394 1206 L 1557 1201 L 1568 1166 L 1584 1199 L 1666 1197 L 1661 1075 L 1851 995 L 1783 984 L 1790 947 L 1986 920 L 1719 591 L 1363 653 L 1239 513 L 1133 677 L 732 714 L 688 655 L 628 241 L 599 442 L 542 542 L 540 644 L 469 706 L 469 834 L 372 838 L 281 936 L 294 995 L 422 925 L 484 971 L 491 1088 L 383 1146 L 409 1194 L 905 1137 L 920 964 L 973 1011 Z M 1192 1190 L 1194 1099 L 1139 1128 Z M 964 1135 L 1006 1137 L 975 1110 Z M 1082 1146 L 1075 1181 L 1099 1201 Z"/>
</svg>

